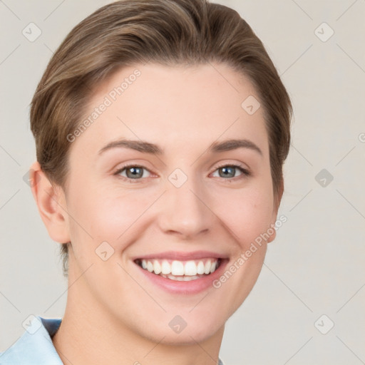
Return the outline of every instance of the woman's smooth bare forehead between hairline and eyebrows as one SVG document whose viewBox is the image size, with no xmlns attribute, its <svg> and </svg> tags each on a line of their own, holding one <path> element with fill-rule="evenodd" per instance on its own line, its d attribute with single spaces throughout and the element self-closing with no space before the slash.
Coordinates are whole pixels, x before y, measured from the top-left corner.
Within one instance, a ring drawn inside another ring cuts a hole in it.
<svg viewBox="0 0 365 365">
<path fill-rule="evenodd" d="M 252 98 L 258 103 L 248 78 L 224 64 L 128 66 L 96 88 L 83 118 L 88 126 L 75 144 L 95 153 L 115 138 L 130 138 L 172 151 L 248 138 L 265 153 L 263 110 L 250 115 L 245 109 Z"/>
</svg>

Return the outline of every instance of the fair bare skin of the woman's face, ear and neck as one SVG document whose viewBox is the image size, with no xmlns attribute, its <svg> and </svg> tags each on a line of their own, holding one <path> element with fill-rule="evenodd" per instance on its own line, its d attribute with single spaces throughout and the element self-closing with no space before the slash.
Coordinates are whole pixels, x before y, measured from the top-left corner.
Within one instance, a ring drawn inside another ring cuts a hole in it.
<svg viewBox="0 0 365 365">
<path fill-rule="evenodd" d="M 140 77 L 73 141 L 65 191 L 38 163 L 31 167 L 49 235 L 72 242 L 66 312 L 53 344 L 64 364 L 212 364 L 225 322 L 254 286 L 274 234 L 219 289 L 197 294 L 156 287 L 132 258 L 208 250 L 228 257 L 230 267 L 267 232 L 277 204 L 263 110 L 246 113 L 242 101 L 259 100 L 257 92 L 224 64 L 148 63 L 123 68 L 98 86 L 88 112 L 137 67 Z M 155 143 L 165 153 L 113 148 L 98 155 L 118 138 Z M 252 141 L 262 155 L 249 148 L 207 152 L 231 138 Z M 125 164 L 143 165 L 143 178 L 130 183 L 125 170 L 113 175 Z M 232 164 L 251 175 L 236 169 L 235 177 L 222 177 L 219 166 Z M 168 180 L 175 168 L 187 176 L 181 187 Z M 114 249 L 107 261 L 95 252 L 105 241 Z M 175 315 L 187 322 L 180 334 L 168 326 Z"/>
</svg>

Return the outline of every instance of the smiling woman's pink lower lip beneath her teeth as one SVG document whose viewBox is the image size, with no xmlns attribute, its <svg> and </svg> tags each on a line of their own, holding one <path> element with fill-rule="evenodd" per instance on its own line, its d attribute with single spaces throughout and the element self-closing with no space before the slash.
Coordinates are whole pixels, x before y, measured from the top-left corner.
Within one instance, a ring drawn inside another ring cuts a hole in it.
<svg viewBox="0 0 365 365">
<path fill-rule="evenodd" d="M 143 269 L 138 264 L 135 265 L 138 267 L 138 269 L 140 269 L 145 277 L 153 282 L 153 284 L 167 292 L 173 294 L 197 294 L 212 287 L 212 282 L 220 277 L 222 272 L 224 272 L 227 262 L 227 259 L 221 259 L 220 266 L 215 270 L 215 272 L 205 275 L 204 277 L 200 277 L 200 279 L 190 280 L 189 282 L 179 282 L 177 280 L 161 277 L 160 275 L 153 274 L 152 272 Z"/>
</svg>

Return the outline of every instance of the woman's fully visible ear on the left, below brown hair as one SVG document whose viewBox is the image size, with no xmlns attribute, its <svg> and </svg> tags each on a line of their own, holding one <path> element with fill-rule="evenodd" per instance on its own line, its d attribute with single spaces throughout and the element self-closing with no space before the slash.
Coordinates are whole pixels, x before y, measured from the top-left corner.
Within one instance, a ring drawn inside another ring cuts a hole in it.
<svg viewBox="0 0 365 365">
<path fill-rule="evenodd" d="M 31 192 L 48 235 L 59 243 L 70 242 L 66 198 L 62 188 L 51 184 L 38 161 L 31 165 L 29 180 Z"/>
</svg>

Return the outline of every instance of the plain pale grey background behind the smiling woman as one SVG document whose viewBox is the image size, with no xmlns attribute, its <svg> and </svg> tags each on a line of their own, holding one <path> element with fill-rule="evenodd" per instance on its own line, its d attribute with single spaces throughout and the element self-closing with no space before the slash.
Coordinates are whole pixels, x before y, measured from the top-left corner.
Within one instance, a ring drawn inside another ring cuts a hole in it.
<svg viewBox="0 0 365 365">
<path fill-rule="evenodd" d="M 52 51 L 108 2 L 0 1 L 2 351 L 29 314 L 63 315 L 58 245 L 23 180 L 36 159 L 29 103 Z M 220 356 L 227 365 L 365 364 L 365 1 L 217 2 L 239 11 L 262 39 L 294 104 L 279 210 L 287 222 L 228 320 Z M 22 34 L 31 22 L 42 32 L 33 42 Z M 323 22 L 334 31 L 327 41 Z"/>
</svg>

